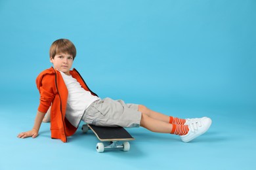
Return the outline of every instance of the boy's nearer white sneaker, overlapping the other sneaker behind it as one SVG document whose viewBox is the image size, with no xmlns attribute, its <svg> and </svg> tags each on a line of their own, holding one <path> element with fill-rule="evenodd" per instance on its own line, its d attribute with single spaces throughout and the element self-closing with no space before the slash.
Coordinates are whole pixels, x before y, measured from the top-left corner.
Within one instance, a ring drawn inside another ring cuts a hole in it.
<svg viewBox="0 0 256 170">
<path fill-rule="evenodd" d="M 199 137 L 200 135 L 203 135 L 209 127 L 211 126 L 211 119 L 207 117 L 198 118 L 198 120 L 194 120 L 194 122 L 190 122 L 188 124 L 188 133 L 186 135 L 181 136 L 181 140 L 184 143 L 188 143 L 189 141 L 192 141 L 196 137 Z"/>
</svg>

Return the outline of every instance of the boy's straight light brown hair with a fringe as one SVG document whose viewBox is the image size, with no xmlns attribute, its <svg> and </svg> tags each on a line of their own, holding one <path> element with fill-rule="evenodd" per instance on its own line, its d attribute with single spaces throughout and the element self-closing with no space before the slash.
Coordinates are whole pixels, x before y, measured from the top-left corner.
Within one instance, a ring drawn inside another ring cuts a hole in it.
<svg viewBox="0 0 256 170">
<path fill-rule="evenodd" d="M 70 54 L 75 59 L 76 49 L 74 44 L 68 39 L 57 39 L 50 47 L 50 58 L 54 59 L 56 54 Z"/>
</svg>

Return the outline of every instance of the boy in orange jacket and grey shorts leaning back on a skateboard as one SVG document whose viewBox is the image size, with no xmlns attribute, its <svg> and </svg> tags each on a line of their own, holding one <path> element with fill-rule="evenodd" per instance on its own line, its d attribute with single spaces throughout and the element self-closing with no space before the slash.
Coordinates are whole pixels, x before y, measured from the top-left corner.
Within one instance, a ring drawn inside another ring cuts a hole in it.
<svg viewBox="0 0 256 170">
<path fill-rule="evenodd" d="M 76 56 L 74 44 L 58 39 L 50 48 L 53 67 L 37 76 L 40 102 L 35 123 L 30 131 L 19 138 L 37 137 L 45 113 L 51 107 L 51 137 L 64 143 L 77 130 L 79 122 L 96 126 L 145 127 L 158 133 L 171 133 L 189 142 L 202 135 L 211 126 L 207 117 L 181 119 L 148 109 L 143 105 L 125 104 L 110 98 L 100 99 L 92 92 L 81 75 L 72 68 Z"/>
</svg>

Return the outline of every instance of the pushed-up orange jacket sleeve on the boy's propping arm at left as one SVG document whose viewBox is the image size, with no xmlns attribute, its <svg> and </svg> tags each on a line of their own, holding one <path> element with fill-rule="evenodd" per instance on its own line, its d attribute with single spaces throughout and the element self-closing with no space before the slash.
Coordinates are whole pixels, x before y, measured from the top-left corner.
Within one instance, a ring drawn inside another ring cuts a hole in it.
<svg viewBox="0 0 256 170">
<path fill-rule="evenodd" d="M 53 75 L 39 75 L 36 80 L 37 88 L 40 93 L 39 112 L 47 112 L 51 103 L 53 102 L 54 92 L 54 76 Z"/>
</svg>

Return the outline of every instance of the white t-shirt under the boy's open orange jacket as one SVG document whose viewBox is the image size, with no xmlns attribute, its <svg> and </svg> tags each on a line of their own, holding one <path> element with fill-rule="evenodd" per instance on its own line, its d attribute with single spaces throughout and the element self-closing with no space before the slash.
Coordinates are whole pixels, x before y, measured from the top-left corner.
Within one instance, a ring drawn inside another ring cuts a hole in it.
<svg viewBox="0 0 256 170">
<path fill-rule="evenodd" d="M 92 95 L 91 92 L 81 87 L 72 75 L 66 75 L 60 71 L 62 78 L 68 88 L 68 103 L 66 108 L 66 118 L 75 127 L 79 125 L 83 113 L 94 101 L 100 99 Z"/>
</svg>

